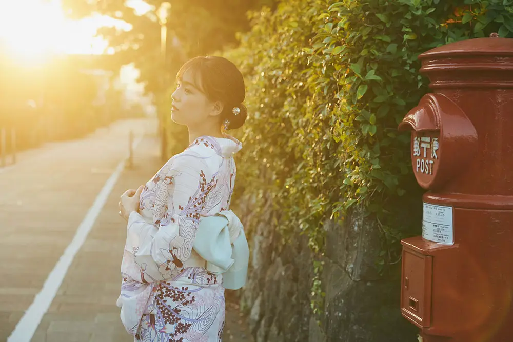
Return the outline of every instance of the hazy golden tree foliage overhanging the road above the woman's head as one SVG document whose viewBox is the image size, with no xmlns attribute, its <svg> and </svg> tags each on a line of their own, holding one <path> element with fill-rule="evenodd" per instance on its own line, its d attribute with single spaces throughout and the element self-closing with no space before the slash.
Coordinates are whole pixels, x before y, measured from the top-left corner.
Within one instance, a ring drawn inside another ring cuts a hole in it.
<svg viewBox="0 0 513 342">
<path fill-rule="evenodd" d="M 140 81 L 148 92 L 163 92 L 180 66 L 189 58 L 214 53 L 238 45 L 237 32 L 250 28 L 246 12 L 262 5 L 274 6 L 275 0 L 193 0 L 173 1 L 167 19 L 166 58 L 161 54 L 161 24 L 158 9 L 161 0 L 148 0 L 152 9 L 137 15 L 122 0 L 76 2 L 64 0 L 63 6 L 75 17 L 94 12 L 121 19 L 132 26 L 129 31 L 102 28 L 98 34 L 109 41 L 119 65 L 134 63 Z M 161 61 L 159 63 L 159 61 Z"/>
</svg>

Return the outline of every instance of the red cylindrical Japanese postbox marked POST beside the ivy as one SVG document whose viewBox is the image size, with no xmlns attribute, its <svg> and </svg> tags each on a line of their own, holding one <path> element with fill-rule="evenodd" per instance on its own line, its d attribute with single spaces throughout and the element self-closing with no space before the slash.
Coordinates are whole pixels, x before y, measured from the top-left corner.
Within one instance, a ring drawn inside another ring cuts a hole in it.
<svg viewBox="0 0 513 342">
<path fill-rule="evenodd" d="M 513 39 L 419 56 L 411 130 L 422 236 L 402 240 L 401 312 L 424 342 L 513 341 Z"/>
</svg>

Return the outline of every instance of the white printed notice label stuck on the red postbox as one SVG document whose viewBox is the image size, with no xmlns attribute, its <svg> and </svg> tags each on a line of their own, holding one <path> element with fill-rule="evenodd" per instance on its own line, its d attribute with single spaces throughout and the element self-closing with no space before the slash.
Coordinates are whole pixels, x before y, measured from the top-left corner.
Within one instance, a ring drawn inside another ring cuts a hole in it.
<svg viewBox="0 0 513 342">
<path fill-rule="evenodd" d="M 422 237 L 432 242 L 454 244 L 452 207 L 424 203 Z"/>
</svg>

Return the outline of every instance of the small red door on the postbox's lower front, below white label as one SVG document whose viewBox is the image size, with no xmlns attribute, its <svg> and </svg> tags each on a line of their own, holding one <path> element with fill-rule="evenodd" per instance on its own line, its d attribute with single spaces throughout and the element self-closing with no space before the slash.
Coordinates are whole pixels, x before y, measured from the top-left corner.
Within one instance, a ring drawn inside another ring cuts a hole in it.
<svg viewBox="0 0 513 342">
<path fill-rule="evenodd" d="M 403 246 L 401 312 L 418 327 L 431 321 L 432 257 Z"/>
</svg>

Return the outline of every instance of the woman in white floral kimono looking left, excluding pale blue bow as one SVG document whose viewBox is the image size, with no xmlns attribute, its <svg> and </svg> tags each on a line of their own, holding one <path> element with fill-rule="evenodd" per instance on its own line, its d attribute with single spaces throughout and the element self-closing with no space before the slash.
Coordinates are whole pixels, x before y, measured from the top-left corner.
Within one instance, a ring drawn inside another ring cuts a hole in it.
<svg viewBox="0 0 513 342">
<path fill-rule="evenodd" d="M 222 275 L 207 271 L 192 246 L 200 218 L 230 207 L 233 154 L 242 145 L 222 128 L 244 124 L 245 85 L 235 65 L 217 56 L 191 59 L 177 81 L 171 119 L 187 126 L 190 145 L 121 196 L 128 226 L 117 305 L 136 341 L 220 341 Z"/>
</svg>

